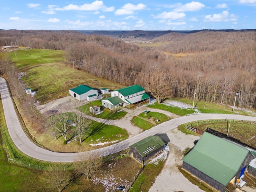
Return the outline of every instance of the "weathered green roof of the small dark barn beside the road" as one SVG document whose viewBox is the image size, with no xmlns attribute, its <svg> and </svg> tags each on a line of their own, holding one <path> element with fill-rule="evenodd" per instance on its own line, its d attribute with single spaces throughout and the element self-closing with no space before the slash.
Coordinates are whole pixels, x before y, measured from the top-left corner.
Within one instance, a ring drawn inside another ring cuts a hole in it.
<svg viewBox="0 0 256 192">
<path fill-rule="evenodd" d="M 137 143 L 129 146 L 130 148 L 136 148 L 136 150 L 140 153 L 142 157 L 150 154 L 152 151 L 164 146 L 165 143 L 159 136 L 148 136 L 140 140 Z"/>
</svg>

